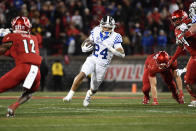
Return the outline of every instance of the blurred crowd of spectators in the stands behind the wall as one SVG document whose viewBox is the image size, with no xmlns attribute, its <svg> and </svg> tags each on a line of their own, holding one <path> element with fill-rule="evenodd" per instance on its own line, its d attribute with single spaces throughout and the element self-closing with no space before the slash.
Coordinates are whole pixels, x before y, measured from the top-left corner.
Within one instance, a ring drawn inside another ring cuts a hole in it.
<svg viewBox="0 0 196 131">
<path fill-rule="evenodd" d="M 81 55 L 81 43 L 105 15 L 112 16 L 123 36 L 126 55 L 169 50 L 175 37 L 170 14 L 188 11 L 193 0 L 1 0 L 0 28 L 13 17 L 27 16 L 40 48 L 47 55 Z M 169 50 L 170 51 L 170 50 Z M 170 52 L 169 52 L 170 53 Z"/>
</svg>

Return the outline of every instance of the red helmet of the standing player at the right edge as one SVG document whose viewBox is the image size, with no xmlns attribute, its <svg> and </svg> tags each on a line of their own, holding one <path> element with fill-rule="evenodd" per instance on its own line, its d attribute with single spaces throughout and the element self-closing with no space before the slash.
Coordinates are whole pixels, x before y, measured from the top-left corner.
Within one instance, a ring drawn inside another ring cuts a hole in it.
<svg viewBox="0 0 196 131">
<path fill-rule="evenodd" d="M 176 27 L 182 23 L 187 23 L 188 15 L 183 10 L 176 10 L 171 15 L 171 21 L 173 25 Z"/>
</svg>

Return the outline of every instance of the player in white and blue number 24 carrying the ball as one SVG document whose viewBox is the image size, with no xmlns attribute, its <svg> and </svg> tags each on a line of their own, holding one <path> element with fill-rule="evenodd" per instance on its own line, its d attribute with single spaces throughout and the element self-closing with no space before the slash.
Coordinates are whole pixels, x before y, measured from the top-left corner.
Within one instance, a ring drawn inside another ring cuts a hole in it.
<svg viewBox="0 0 196 131">
<path fill-rule="evenodd" d="M 75 77 L 72 87 L 63 101 L 71 101 L 75 91 L 82 80 L 91 74 L 90 89 L 86 93 L 83 106 L 88 106 L 90 98 L 94 95 L 102 83 L 107 68 L 113 55 L 124 58 L 125 53 L 122 48 L 122 36 L 114 32 L 115 20 L 111 16 L 105 16 L 101 19 L 100 25 L 96 26 L 90 36 L 82 43 L 82 51 L 92 54 L 87 57 L 80 73 Z"/>
</svg>

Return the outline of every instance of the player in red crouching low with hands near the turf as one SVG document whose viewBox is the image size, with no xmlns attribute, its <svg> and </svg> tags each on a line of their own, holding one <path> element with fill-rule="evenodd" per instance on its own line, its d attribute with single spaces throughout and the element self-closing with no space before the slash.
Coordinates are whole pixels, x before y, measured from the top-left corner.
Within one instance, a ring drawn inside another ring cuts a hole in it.
<svg viewBox="0 0 196 131">
<path fill-rule="evenodd" d="M 169 64 L 169 55 L 165 51 L 159 51 L 149 55 L 145 61 L 145 68 L 143 74 L 143 87 L 142 91 L 144 93 L 143 104 L 148 104 L 150 100 L 149 92 L 152 93 L 153 102 L 152 105 L 158 105 L 157 101 L 157 90 L 156 90 L 156 74 L 160 73 L 163 80 L 167 83 L 169 90 L 172 92 L 172 96 L 179 104 L 184 103 L 184 95 L 182 91 L 182 80 L 181 77 L 177 76 L 177 61 L 175 61 L 171 66 Z M 179 89 L 180 95 L 176 89 L 176 83 Z"/>
</svg>

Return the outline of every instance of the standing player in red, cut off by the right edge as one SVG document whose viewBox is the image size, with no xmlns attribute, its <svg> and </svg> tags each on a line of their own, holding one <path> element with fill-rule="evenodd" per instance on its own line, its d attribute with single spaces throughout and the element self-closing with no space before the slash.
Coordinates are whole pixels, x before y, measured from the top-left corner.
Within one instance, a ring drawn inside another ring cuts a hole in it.
<svg viewBox="0 0 196 131">
<path fill-rule="evenodd" d="M 176 21 L 176 19 L 178 19 L 178 21 Z M 187 71 L 184 80 L 187 91 L 192 97 L 196 98 L 196 28 L 194 23 L 189 27 L 189 23 L 186 23 L 186 19 L 189 18 L 183 10 L 177 10 L 172 14 L 172 23 L 175 26 L 176 43 L 179 46 L 177 47 L 175 54 L 172 56 L 170 63 L 175 61 L 185 50 L 190 53 L 191 57 L 186 66 Z"/>
</svg>

